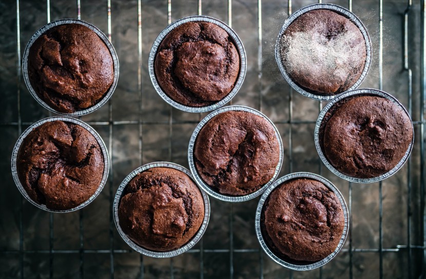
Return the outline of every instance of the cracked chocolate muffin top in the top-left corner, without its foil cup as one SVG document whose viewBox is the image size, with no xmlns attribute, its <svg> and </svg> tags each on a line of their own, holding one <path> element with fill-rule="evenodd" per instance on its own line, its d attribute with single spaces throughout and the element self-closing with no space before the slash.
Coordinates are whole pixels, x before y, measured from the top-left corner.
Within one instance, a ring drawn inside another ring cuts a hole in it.
<svg viewBox="0 0 426 279">
<path fill-rule="evenodd" d="M 32 44 L 28 77 L 46 104 L 72 113 L 94 106 L 108 91 L 114 78 L 112 56 L 88 27 L 55 26 Z"/>
</svg>

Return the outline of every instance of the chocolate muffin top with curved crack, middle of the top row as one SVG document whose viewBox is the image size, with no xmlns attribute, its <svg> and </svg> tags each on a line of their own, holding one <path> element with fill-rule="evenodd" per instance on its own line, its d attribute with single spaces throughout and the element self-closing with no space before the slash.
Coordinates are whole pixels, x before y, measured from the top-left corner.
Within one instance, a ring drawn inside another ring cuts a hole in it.
<svg viewBox="0 0 426 279">
<path fill-rule="evenodd" d="M 154 59 L 161 89 L 192 107 L 213 104 L 233 88 L 240 56 L 229 34 L 216 24 L 184 23 L 167 34 Z"/>
</svg>

